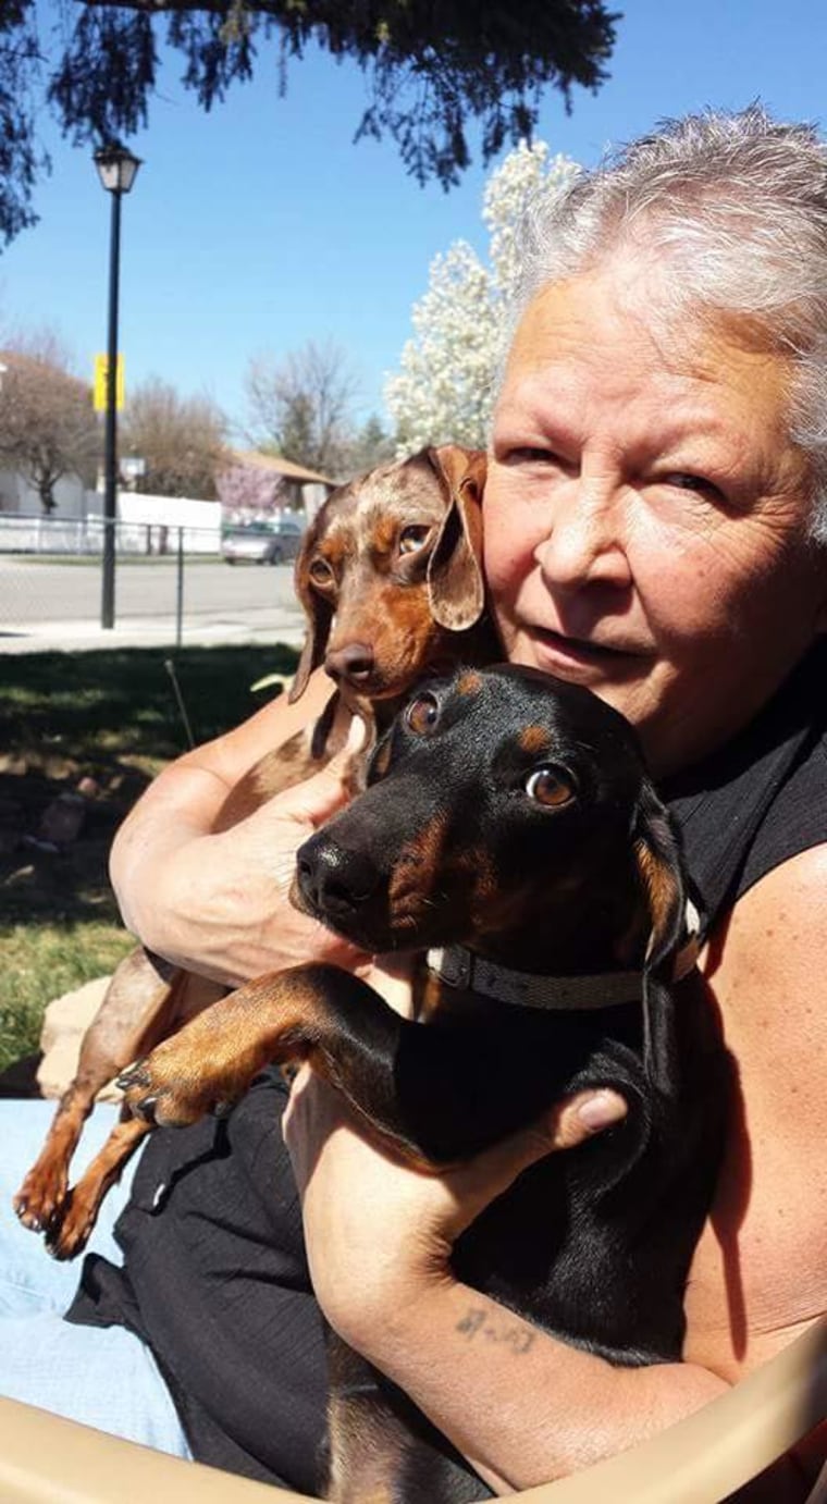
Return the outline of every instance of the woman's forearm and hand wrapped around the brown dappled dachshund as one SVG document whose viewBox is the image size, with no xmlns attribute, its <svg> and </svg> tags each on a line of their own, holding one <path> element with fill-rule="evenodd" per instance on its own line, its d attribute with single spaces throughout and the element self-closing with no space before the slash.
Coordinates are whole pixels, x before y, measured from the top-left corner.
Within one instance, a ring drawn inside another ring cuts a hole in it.
<svg viewBox="0 0 827 1504">
<path fill-rule="evenodd" d="M 125 923 L 150 951 L 230 985 L 295 961 L 359 958 L 287 898 L 296 848 L 346 802 L 346 758 L 212 835 L 230 788 L 314 720 L 329 695 L 329 680 L 316 674 L 298 704 L 280 696 L 179 758 L 141 796 L 116 836 L 110 872 Z"/>
</svg>

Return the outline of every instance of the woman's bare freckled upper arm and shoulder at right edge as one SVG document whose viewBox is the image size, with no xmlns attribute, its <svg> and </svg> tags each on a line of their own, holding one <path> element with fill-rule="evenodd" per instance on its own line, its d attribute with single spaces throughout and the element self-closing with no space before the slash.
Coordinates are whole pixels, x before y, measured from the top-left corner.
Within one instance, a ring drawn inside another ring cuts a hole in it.
<svg viewBox="0 0 827 1504">
<path fill-rule="evenodd" d="M 738 1078 L 686 1352 L 735 1381 L 827 1310 L 827 847 L 738 901 L 705 975 Z"/>
</svg>

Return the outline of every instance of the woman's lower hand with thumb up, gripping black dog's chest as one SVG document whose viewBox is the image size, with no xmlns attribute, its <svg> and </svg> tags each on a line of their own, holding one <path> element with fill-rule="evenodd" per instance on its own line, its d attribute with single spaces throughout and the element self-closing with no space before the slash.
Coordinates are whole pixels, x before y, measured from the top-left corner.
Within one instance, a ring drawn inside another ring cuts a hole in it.
<svg viewBox="0 0 827 1504">
<path fill-rule="evenodd" d="M 454 1241 L 535 1160 L 626 1116 L 615 1092 L 585 1092 L 442 1176 L 388 1158 L 331 1086 L 304 1068 L 284 1139 L 304 1206 L 313 1286 L 331 1325 L 382 1367 L 417 1305 L 451 1281 Z"/>
</svg>

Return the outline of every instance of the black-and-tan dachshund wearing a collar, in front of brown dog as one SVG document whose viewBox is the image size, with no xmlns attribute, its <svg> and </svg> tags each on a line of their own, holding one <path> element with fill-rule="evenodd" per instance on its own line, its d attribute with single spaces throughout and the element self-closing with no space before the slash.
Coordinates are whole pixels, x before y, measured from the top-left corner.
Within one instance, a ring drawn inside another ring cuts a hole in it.
<svg viewBox="0 0 827 1504">
<path fill-rule="evenodd" d="M 427 1173 L 610 1086 L 624 1122 L 526 1170 L 462 1235 L 454 1266 L 609 1363 L 678 1361 L 728 1074 L 684 937 L 675 833 L 627 722 L 532 669 L 429 681 L 379 741 L 365 791 L 301 847 L 293 901 L 367 951 L 421 952 L 415 1021 L 332 966 L 263 976 L 128 1071 L 129 1107 L 188 1123 L 265 1063 L 308 1059 Z M 496 1336 L 472 1302 L 463 1331 L 483 1351 Z M 337 1501 L 484 1493 L 337 1339 L 329 1417 Z"/>
</svg>

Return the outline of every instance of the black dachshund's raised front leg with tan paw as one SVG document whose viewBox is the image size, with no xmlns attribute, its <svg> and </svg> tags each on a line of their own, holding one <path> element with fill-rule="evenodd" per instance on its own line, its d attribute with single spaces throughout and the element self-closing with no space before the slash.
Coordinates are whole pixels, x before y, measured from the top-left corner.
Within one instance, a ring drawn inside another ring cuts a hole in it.
<svg viewBox="0 0 827 1504">
<path fill-rule="evenodd" d="M 230 993 L 119 1080 L 132 1113 L 183 1126 L 235 1102 L 265 1065 L 310 1060 L 371 1137 L 427 1170 L 468 1152 L 468 1036 L 457 1035 L 400 1018 L 349 972 L 310 964 Z"/>
</svg>

